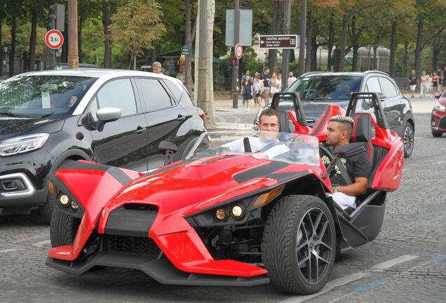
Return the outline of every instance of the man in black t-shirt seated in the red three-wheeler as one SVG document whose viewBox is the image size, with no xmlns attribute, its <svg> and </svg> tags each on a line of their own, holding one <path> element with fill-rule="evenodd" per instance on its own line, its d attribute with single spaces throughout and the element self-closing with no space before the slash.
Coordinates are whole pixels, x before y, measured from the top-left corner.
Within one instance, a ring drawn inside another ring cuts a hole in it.
<svg viewBox="0 0 446 303">
<path fill-rule="evenodd" d="M 325 135 L 326 142 L 331 147 L 339 147 L 349 144 L 351 133 L 353 132 L 354 121 L 348 116 L 333 116 L 327 125 Z M 323 156 L 324 163 L 330 163 L 326 156 Z M 352 180 L 348 184 L 342 177 L 342 173 L 337 166 L 332 170 L 333 175 L 330 181 L 333 185 L 333 201 L 339 204 L 342 209 L 356 208 L 356 196 L 365 194 L 367 182 L 372 173 L 372 165 L 365 152 L 350 156 L 347 159 L 340 159 L 337 165 L 342 163 L 346 172 Z"/>
</svg>

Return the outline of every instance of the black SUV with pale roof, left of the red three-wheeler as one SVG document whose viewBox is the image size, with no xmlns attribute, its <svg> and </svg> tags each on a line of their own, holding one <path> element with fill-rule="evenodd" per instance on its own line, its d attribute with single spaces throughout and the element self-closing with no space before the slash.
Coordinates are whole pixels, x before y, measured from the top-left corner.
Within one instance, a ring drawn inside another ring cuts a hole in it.
<svg viewBox="0 0 446 303">
<path fill-rule="evenodd" d="M 46 177 L 88 160 L 146 172 L 163 166 L 158 145 L 177 145 L 180 159 L 205 132 L 182 83 L 169 76 L 120 70 L 20 74 L 0 84 L 0 208 L 46 222 L 53 201 Z"/>
</svg>

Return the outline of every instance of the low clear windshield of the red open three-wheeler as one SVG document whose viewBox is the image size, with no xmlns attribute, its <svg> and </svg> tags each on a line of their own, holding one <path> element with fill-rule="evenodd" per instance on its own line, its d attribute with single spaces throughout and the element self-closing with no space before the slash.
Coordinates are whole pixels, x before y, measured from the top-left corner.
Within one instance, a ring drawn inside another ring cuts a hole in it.
<svg viewBox="0 0 446 303">
<path fill-rule="evenodd" d="M 296 133 L 255 130 L 218 131 L 203 133 L 187 154 L 186 159 L 249 154 L 255 159 L 319 167 L 318 146 L 316 137 Z"/>
</svg>

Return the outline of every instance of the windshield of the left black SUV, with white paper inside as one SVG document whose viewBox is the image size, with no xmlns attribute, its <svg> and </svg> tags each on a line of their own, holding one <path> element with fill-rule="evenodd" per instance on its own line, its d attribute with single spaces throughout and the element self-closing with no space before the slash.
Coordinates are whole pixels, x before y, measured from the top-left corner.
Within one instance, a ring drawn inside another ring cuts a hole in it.
<svg viewBox="0 0 446 303">
<path fill-rule="evenodd" d="M 85 76 L 15 76 L 0 84 L 0 116 L 67 116 L 96 80 Z"/>
</svg>

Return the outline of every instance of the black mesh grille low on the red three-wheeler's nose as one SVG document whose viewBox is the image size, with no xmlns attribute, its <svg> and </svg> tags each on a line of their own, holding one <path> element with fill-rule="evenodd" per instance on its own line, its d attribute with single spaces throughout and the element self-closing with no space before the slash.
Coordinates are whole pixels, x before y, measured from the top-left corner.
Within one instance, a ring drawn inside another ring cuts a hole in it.
<svg viewBox="0 0 446 303">
<path fill-rule="evenodd" d="M 151 238 L 108 235 L 109 250 L 114 253 L 131 253 L 158 257 L 161 250 Z"/>
</svg>

